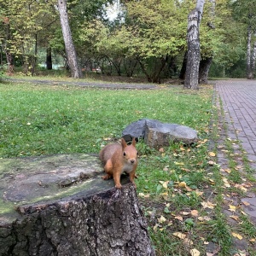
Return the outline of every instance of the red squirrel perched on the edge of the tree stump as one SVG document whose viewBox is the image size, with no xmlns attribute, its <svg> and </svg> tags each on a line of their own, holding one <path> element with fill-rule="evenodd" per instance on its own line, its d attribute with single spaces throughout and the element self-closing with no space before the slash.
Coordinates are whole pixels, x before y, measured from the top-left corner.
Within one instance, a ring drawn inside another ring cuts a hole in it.
<svg viewBox="0 0 256 256">
<path fill-rule="evenodd" d="M 100 151 L 100 160 L 107 173 L 102 178 L 108 179 L 113 177 L 115 187 L 120 189 L 121 174 L 126 172 L 130 176 L 131 183 L 134 183 L 135 171 L 137 168 L 137 149 L 135 138 L 132 139 L 131 145 L 127 145 L 125 139 L 121 139 L 120 143 L 108 144 Z"/>
</svg>

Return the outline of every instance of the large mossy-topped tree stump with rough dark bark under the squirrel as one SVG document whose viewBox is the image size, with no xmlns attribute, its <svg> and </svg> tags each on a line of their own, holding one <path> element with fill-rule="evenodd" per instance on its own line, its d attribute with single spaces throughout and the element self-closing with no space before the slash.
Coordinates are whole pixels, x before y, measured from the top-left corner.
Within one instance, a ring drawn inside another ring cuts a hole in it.
<svg viewBox="0 0 256 256">
<path fill-rule="evenodd" d="M 0 255 L 155 255 L 136 189 L 96 156 L 0 161 Z"/>
</svg>

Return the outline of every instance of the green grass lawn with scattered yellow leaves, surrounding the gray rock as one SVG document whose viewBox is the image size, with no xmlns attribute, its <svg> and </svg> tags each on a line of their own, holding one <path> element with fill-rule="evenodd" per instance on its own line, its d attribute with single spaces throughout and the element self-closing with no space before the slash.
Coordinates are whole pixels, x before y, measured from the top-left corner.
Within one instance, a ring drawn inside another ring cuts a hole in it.
<svg viewBox="0 0 256 256">
<path fill-rule="evenodd" d="M 155 150 L 137 143 L 137 194 L 156 254 L 206 255 L 212 245 L 218 255 L 233 255 L 219 166 L 212 161 L 216 147 L 209 151 L 210 136 L 217 136 L 209 124 L 218 121 L 212 91 L 211 85 L 191 91 L 0 84 L 0 158 L 98 153 L 143 118 L 188 125 L 198 131 L 199 142 L 192 146 L 173 143 Z M 253 227 L 243 223 L 252 239 Z"/>
</svg>

